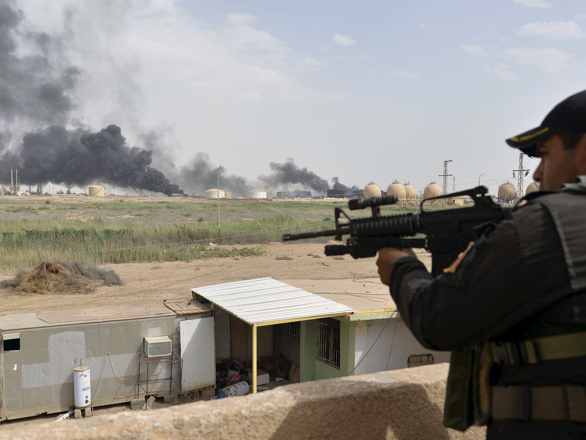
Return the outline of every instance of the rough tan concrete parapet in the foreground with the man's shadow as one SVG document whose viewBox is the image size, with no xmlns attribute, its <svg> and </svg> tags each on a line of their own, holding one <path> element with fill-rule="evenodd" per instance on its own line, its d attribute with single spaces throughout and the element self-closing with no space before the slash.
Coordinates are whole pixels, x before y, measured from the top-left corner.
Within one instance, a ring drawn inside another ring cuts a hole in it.
<svg viewBox="0 0 586 440">
<path fill-rule="evenodd" d="M 441 425 L 448 364 L 278 387 L 144 412 L 0 431 L 0 440 L 476 440 Z"/>
</svg>

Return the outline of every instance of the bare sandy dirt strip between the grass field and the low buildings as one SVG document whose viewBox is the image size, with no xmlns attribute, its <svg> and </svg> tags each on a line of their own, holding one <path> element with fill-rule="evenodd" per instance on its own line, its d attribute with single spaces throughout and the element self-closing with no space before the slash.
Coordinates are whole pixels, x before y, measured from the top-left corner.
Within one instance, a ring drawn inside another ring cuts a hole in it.
<svg viewBox="0 0 586 440">
<path fill-rule="evenodd" d="M 268 243 L 261 245 L 267 253 L 238 260 L 231 258 L 200 259 L 190 263 L 122 263 L 103 265 L 114 269 L 124 286 L 101 286 L 87 295 L 87 307 L 120 306 L 137 302 L 191 297 L 192 287 L 206 286 L 265 276 L 278 280 L 348 279 L 377 276 L 376 259 L 355 260 L 345 256 L 334 260 L 323 255 L 318 243 Z M 308 253 L 320 258 L 308 256 Z M 275 260 L 288 256 L 292 260 Z M 427 265 L 427 253 L 418 254 Z M 0 280 L 16 271 L 0 273 Z M 0 290 L 0 314 L 29 313 L 39 310 L 66 310 L 80 307 L 79 295 L 19 295 Z"/>
</svg>

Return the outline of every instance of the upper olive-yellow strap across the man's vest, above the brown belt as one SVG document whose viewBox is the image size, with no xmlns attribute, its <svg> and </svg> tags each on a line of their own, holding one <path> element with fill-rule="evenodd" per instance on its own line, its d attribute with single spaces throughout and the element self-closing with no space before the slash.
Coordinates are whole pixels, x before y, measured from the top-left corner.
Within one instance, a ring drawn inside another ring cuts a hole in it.
<svg viewBox="0 0 586 440">
<path fill-rule="evenodd" d="M 586 356 L 586 331 L 544 336 L 516 343 L 491 343 L 491 345 L 495 362 L 502 361 L 497 353 L 505 348 L 510 364 L 516 365 L 520 361 L 537 364 L 541 361 Z M 519 351 L 523 353 L 522 359 L 520 359 Z"/>
</svg>

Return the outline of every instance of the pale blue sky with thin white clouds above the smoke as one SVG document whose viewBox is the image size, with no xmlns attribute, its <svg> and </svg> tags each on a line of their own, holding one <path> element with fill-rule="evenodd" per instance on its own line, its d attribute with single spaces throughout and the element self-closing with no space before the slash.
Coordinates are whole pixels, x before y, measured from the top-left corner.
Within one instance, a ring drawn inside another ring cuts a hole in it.
<svg viewBox="0 0 586 440">
<path fill-rule="evenodd" d="M 71 4 L 22 3 L 31 26 L 49 26 L 48 14 L 56 29 Z M 484 173 L 495 193 L 518 161 L 504 139 L 586 88 L 582 1 L 110 0 L 76 11 L 83 123 L 117 123 L 135 144 L 155 130 L 176 163 L 203 151 L 251 180 L 291 157 L 348 185 L 419 188 L 453 160 L 456 184 Z"/>
</svg>

